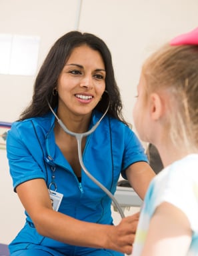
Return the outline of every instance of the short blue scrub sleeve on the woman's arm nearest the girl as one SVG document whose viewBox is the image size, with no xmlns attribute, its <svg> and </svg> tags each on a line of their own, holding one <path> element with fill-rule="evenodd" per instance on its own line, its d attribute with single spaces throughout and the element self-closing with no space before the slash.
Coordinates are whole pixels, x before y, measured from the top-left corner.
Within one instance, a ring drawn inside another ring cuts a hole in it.
<svg viewBox="0 0 198 256">
<path fill-rule="evenodd" d="M 147 155 L 145 154 L 145 149 L 141 145 L 137 135 L 129 128 L 125 129 L 125 150 L 123 154 L 123 165 L 121 175 L 124 179 L 127 179 L 125 175 L 125 169 L 137 163 L 139 161 L 144 161 L 148 163 Z"/>
</svg>

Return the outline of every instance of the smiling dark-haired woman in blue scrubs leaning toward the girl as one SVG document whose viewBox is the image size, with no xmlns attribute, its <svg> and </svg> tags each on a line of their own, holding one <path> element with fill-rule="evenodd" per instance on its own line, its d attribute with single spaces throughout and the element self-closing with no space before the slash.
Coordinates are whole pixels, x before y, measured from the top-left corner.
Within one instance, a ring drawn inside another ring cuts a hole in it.
<svg viewBox="0 0 198 256">
<path fill-rule="evenodd" d="M 7 136 L 13 187 L 25 207 L 25 226 L 11 256 L 131 253 L 139 215 L 113 225 L 111 199 L 81 170 L 75 133 L 93 127 L 81 151 L 87 170 L 112 194 L 120 175 L 143 199 L 155 175 L 122 116 L 111 53 L 89 33 L 71 31 L 55 42 L 35 81 L 33 99 Z"/>
</svg>

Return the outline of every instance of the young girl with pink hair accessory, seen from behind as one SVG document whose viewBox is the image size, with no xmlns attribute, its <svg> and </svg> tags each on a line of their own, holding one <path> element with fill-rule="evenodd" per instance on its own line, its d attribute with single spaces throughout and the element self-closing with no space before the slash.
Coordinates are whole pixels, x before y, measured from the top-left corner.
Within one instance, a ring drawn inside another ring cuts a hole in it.
<svg viewBox="0 0 198 256">
<path fill-rule="evenodd" d="M 198 255 L 198 28 L 143 65 L 135 127 L 165 169 L 149 185 L 133 255 Z"/>
</svg>

